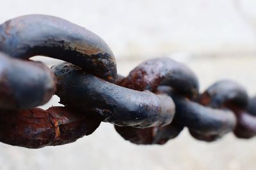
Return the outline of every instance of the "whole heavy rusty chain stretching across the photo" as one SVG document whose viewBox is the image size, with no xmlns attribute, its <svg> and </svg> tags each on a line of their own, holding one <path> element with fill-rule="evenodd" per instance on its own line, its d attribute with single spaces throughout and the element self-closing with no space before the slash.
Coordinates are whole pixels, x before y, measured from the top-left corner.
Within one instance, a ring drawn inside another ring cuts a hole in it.
<svg viewBox="0 0 256 170">
<path fill-rule="evenodd" d="M 65 62 L 51 70 L 29 57 Z M 93 32 L 61 18 L 27 15 L 0 25 L 0 141 L 26 148 L 72 143 L 109 122 L 136 144 L 164 144 L 188 127 L 215 141 L 228 132 L 256 134 L 256 97 L 223 80 L 202 94 L 189 67 L 151 59 L 128 76 L 116 73 L 113 53 Z M 64 106 L 35 108 L 52 95 Z"/>
</svg>

